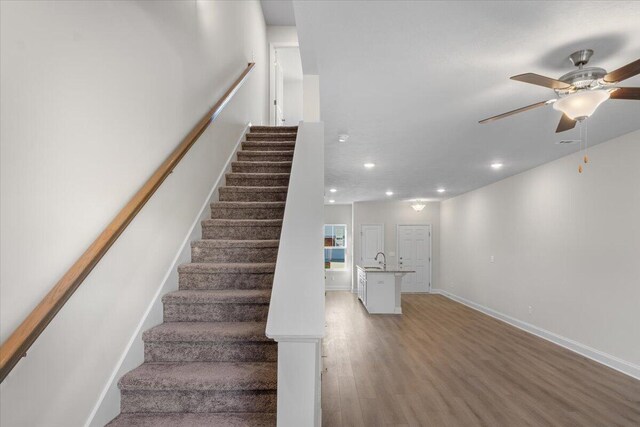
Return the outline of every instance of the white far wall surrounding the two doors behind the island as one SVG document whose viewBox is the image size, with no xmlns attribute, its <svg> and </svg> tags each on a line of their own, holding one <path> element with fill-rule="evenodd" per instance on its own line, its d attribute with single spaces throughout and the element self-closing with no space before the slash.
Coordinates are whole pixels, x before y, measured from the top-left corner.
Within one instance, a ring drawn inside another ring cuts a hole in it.
<svg viewBox="0 0 640 427">
<path fill-rule="evenodd" d="M 384 253 L 387 265 L 397 265 L 398 224 L 431 225 L 431 286 L 439 284 L 440 262 L 440 202 L 425 202 L 425 208 L 416 212 L 409 202 L 356 202 L 353 204 L 353 263 L 360 263 L 360 226 L 362 224 L 384 224 Z M 353 284 L 357 283 L 353 271 Z"/>
</svg>

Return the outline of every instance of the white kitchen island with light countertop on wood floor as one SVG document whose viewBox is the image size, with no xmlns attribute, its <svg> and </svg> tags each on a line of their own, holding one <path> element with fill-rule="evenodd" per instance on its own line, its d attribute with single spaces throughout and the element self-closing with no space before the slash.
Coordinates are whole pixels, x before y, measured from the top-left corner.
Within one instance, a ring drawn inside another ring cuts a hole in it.
<svg viewBox="0 0 640 427">
<path fill-rule="evenodd" d="M 358 269 L 358 298 L 370 314 L 402 314 L 402 276 L 413 273 L 395 268 Z"/>
</svg>

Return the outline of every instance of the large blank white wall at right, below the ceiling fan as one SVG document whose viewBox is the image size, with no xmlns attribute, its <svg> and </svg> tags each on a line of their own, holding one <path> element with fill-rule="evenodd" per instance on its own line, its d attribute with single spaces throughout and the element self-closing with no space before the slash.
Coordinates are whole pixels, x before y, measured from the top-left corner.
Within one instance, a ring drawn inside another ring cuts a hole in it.
<svg viewBox="0 0 640 427">
<path fill-rule="evenodd" d="M 443 202 L 440 285 L 640 369 L 640 131 L 589 154 Z"/>
</svg>

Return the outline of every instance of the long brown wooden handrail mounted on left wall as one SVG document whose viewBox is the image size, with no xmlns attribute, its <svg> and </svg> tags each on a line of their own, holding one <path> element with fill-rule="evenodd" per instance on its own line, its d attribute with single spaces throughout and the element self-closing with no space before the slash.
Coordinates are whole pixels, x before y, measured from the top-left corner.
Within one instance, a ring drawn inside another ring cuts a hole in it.
<svg viewBox="0 0 640 427">
<path fill-rule="evenodd" d="M 245 82 L 254 66 L 255 63 L 253 62 L 247 65 L 247 68 L 244 69 L 240 77 L 233 82 L 218 102 L 216 102 L 207 114 L 195 125 L 191 132 L 187 134 L 180 145 L 173 150 L 160 167 L 156 169 L 153 175 L 151 175 L 151 178 L 144 183 L 140 190 L 138 190 L 111 223 L 100 233 L 98 238 L 89 246 L 82 256 L 69 268 L 13 334 L 2 343 L 2 347 L 0 347 L 0 382 L 4 381 L 18 361 L 23 356 L 26 356 L 29 347 L 31 347 L 38 336 L 40 336 L 49 322 L 51 322 L 62 306 L 71 295 L 73 295 L 75 290 L 78 289 L 91 270 L 93 270 L 104 254 L 107 253 L 111 245 L 113 245 L 120 234 L 127 228 L 129 223 L 135 218 L 138 212 L 140 212 L 164 180 L 173 172 L 173 169 L 198 140 L 198 137 L 202 135 L 222 112 L 233 95 Z"/>
</svg>

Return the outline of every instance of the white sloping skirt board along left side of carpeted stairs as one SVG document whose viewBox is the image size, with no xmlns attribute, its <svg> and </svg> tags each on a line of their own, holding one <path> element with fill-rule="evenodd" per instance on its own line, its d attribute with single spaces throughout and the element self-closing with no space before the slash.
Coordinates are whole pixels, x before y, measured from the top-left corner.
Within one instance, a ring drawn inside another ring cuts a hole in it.
<svg viewBox="0 0 640 427">
<path fill-rule="evenodd" d="M 191 224 L 187 235 L 185 236 L 178 253 L 176 254 L 171 266 L 167 270 L 158 290 L 156 291 L 151 303 L 144 312 L 138 326 L 136 327 L 129 343 L 125 347 L 117 365 L 115 366 L 109 380 L 107 381 L 96 405 L 94 406 L 91 414 L 87 418 L 85 427 L 88 426 L 103 426 L 115 417 L 120 409 L 120 390 L 118 389 L 118 379 L 127 373 L 129 370 L 140 365 L 144 357 L 144 344 L 142 342 L 142 333 L 152 326 L 162 323 L 162 296 L 170 291 L 177 289 L 178 283 L 178 266 L 191 260 L 191 242 L 198 240 L 202 235 L 201 222 L 209 218 L 209 205 L 212 202 L 217 201 L 217 190 L 224 184 L 224 177 L 227 172 L 231 170 L 231 162 L 238 152 L 240 144 L 245 138 L 245 134 L 251 127 L 251 123 L 242 130 L 238 141 L 236 142 L 233 151 L 229 155 L 224 168 L 218 175 L 216 182 L 213 184 L 207 199 L 200 208 L 198 216 Z M 117 406 L 117 412 L 115 407 Z"/>
</svg>

